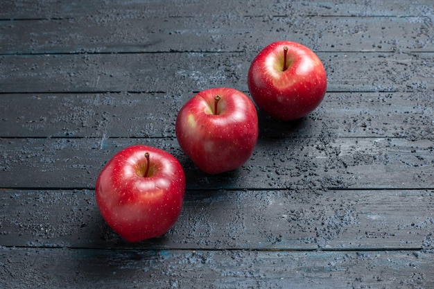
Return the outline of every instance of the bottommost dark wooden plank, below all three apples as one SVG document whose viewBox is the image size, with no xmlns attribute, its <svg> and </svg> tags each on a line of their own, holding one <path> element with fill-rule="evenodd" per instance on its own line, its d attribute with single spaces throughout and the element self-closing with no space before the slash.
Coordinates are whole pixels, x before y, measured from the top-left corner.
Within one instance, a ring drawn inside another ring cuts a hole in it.
<svg viewBox="0 0 434 289">
<path fill-rule="evenodd" d="M 432 288 L 432 258 L 432 252 L 3 248 L 0 277 L 6 288 Z"/>
</svg>

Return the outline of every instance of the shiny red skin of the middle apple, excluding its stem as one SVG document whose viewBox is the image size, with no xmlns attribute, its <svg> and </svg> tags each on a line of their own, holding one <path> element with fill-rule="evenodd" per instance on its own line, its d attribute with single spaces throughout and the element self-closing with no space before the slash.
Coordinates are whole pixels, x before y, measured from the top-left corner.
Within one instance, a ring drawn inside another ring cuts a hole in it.
<svg viewBox="0 0 434 289">
<path fill-rule="evenodd" d="M 215 97 L 218 114 L 214 114 Z M 252 156 L 259 134 L 258 114 L 243 92 L 227 87 L 205 89 L 184 104 L 175 123 L 177 141 L 202 171 L 234 170 Z"/>
</svg>

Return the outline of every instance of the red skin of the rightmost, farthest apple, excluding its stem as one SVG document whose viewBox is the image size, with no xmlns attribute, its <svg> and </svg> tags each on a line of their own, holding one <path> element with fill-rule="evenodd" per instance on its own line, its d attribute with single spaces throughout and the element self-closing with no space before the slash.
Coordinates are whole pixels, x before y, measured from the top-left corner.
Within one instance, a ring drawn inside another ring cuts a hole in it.
<svg viewBox="0 0 434 289">
<path fill-rule="evenodd" d="M 311 49 L 283 40 L 269 44 L 254 58 L 248 71 L 248 88 L 260 110 L 275 119 L 292 121 L 320 105 L 327 91 L 327 75 Z"/>
</svg>

